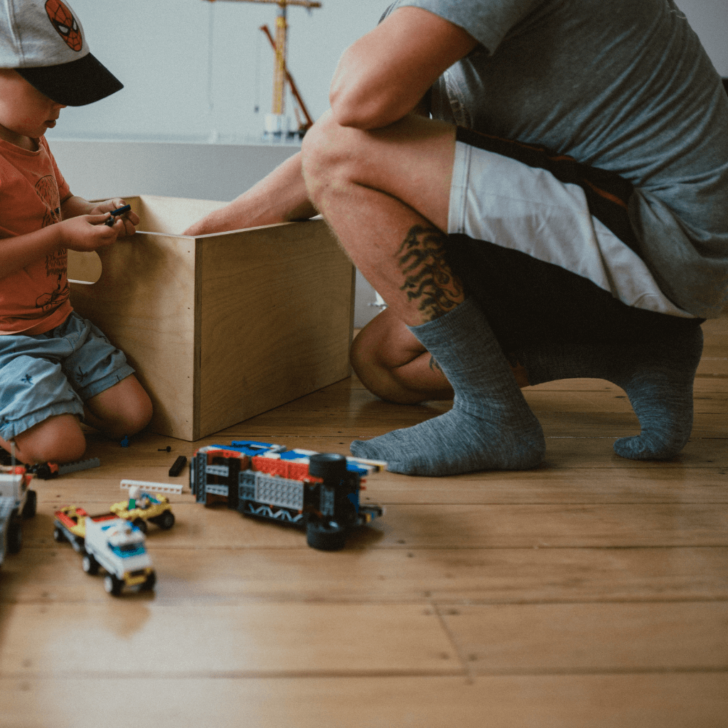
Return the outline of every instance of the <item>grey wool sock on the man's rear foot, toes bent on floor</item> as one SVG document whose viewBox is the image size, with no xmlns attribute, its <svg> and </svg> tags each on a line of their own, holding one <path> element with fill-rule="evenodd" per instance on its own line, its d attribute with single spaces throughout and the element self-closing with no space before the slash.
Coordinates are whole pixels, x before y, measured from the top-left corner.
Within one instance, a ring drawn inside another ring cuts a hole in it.
<svg viewBox="0 0 728 728">
<path fill-rule="evenodd" d="M 641 432 L 614 443 L 617 455 L 632 460 L 668 460 L 692 432 L 692 385 L 703 352 L 700 327 L 669 339 L 623 345 L 550 344 L 515 356 L 529 384 L 555 379 L 606 379 L 622 387 Z"/>
</svg>

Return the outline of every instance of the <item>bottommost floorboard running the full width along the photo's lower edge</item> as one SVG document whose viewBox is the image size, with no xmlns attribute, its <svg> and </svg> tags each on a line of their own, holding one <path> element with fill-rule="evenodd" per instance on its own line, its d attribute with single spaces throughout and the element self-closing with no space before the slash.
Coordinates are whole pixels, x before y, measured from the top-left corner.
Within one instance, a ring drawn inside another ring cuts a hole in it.
<svg viewBox="0 0 728 728">
<path fill-rule="evenodd" d="M 725 728 L 728 674 L 0 680 L 4 728 Z"/>
</svg>

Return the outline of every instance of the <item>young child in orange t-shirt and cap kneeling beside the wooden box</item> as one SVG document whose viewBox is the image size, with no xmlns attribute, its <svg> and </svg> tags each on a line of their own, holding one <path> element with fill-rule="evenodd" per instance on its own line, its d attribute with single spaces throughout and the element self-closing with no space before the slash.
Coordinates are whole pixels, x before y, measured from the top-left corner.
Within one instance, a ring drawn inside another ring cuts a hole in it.
<svg viewBox="0 0 728 728">
<path fill-rule="evenodd" d="M 123 199 L 75 197 L 44 132 L 60 109 L 122 84 L 89 52 L 61 0 L 0 0 L 0 446 L 26 463 L 72 462 L 80 422 L 133 435 L 151 402 L 124 354 L 68 301 L 66 250 L 132 235 L 139 218 L 110 221 Z"/>
</svg>

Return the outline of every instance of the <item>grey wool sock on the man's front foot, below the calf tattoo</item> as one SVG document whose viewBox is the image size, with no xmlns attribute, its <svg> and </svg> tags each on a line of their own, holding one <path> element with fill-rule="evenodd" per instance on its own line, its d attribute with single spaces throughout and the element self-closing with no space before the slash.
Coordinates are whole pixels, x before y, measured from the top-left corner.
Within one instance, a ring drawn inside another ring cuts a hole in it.
<svg viewBox="0 0 728 728">
<path fill-rule="evenodd" d="M 536 467 L 546 447 L 541 425 L 478 306 L 467 299 L 410 331 L 455 390 L 453 408 L 414 427 L 355 440 L 352 454 L 386 460 L 388 470 L 407 475 Z"/>
</svg>

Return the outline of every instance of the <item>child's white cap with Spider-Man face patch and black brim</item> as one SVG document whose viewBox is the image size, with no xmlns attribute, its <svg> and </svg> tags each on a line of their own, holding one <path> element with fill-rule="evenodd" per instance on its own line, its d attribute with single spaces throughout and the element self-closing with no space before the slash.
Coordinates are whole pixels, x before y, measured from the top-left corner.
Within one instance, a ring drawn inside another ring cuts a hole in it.
<svg viewBox="0 0 728 728">
<path fill-rule="evenodd" d="M 85 106 L 123 88 L 91 55 L 64 0 L 0 0 L 0 68 L 15 68 L 64 106 Z"/>
</svg>

